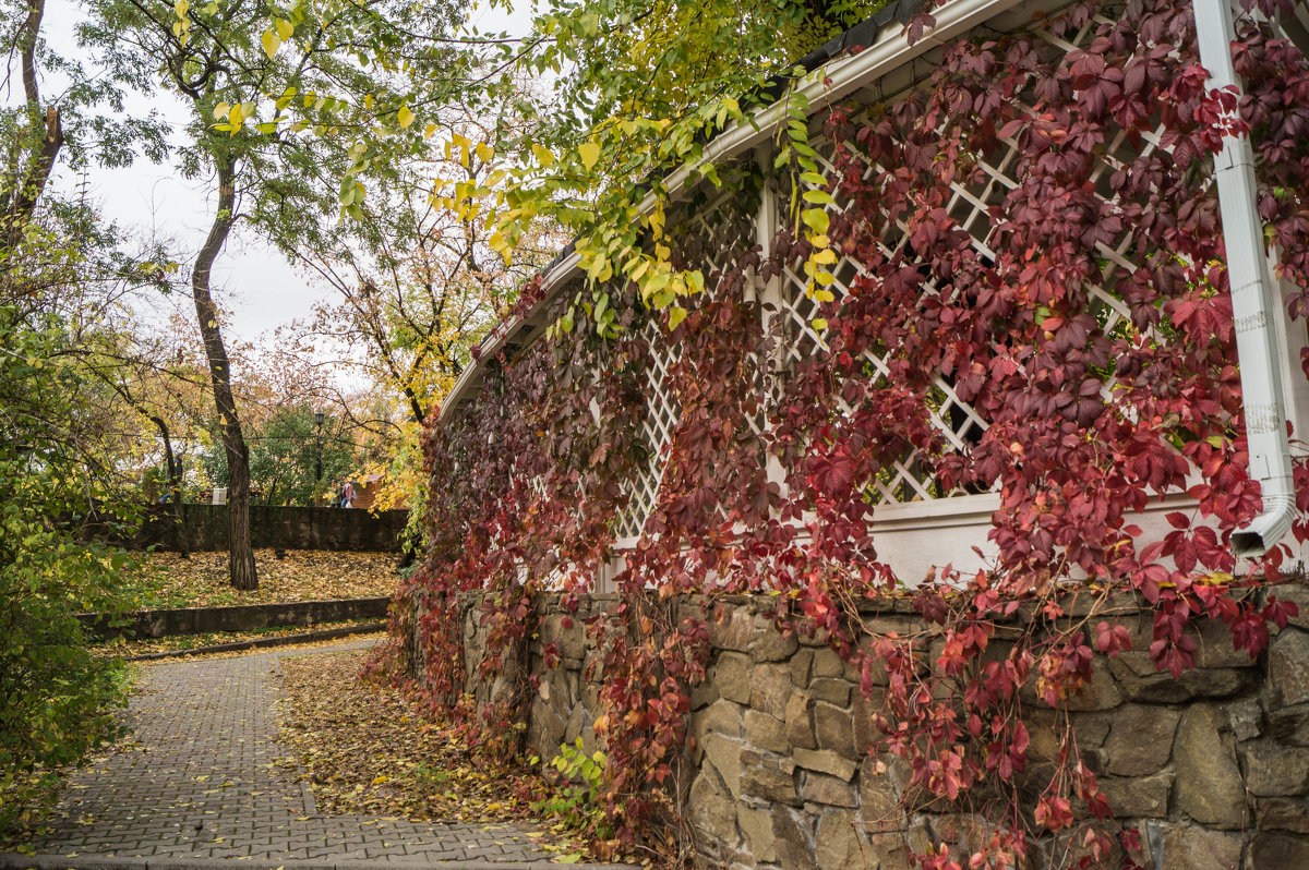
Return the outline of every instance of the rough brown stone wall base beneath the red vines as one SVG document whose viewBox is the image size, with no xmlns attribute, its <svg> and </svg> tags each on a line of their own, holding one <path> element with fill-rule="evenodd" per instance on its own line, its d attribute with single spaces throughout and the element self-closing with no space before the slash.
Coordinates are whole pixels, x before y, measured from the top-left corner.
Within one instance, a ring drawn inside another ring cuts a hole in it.
<svg viewBox="0 0 1309 870">
<path fill-rule="evenodd" d="M 1118 822 L 1135 827 L 1156 870 L 1289 870 L 1309 867 L 1309 586 L 1282 587 L 1301 616 L 1275 632 L 1259 659 L 1232 649 L 1221 624 L 1198 633 L 1198 667 L 1174 680 L 1145 650 L 1148 614 L 1126 624 L 1134 650 L 1097 657 L 1092 686 L 1069 703 L 1084 760 L 1094 769 Z M 541 611 L 531 667 L 529 740 L 542 757 L 590 725 L 597 684 L 586 680 L 596 655 L 585 620 L 611 597 L 584 598 L 563 614 L 558 599 Z M 899 819 L 906 782 L 894 759 L 878 773 L 868 754 L 877 705 L 856 675 L 822 642 L 781 637 L 759 602 L 713 599 L 707 615 L 713 648 L 708 679 L 692 692 L 683 814 L 702 866 L 907 869 L 906 840 L 956 841 L 961 816 Z M 484 629 L 478 602 L 463 611 L 467 674 L 480 661 Z M 677 608 L 704 614 L 704 599 Z M 870 612 L 878 631 L 912 628 L 905 602 Z M 562 658 L 543 666 L 554 644 Z M 597 669 L 598 670 L 598 669 Z M 479 687 L 484 700 L 490 687 Z M 1052 712 L 1028 697 L 1031 735 L 1028 776 L 1049 781 L 1058 751 Z M 1114 866 L 1117 866 L 1117 860 Z"/>
</svg>

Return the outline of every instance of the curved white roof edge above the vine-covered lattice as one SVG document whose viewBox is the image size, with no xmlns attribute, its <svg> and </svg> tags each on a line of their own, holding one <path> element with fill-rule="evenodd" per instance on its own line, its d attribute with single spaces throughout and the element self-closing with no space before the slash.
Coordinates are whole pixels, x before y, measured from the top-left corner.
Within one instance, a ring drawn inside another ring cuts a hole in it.
<svg viewBox="0 0 1309 870">
<path fill-rule="evenodd" d="M 818 67 L 812 73 L 808 73 L 801 80 L 798 90 L 808 97 L 810 114 L 813 114 L 851 92 L 876 81 L 905 63 L 944 44 L 946 41 L 954 39 L 988 18 L 1005 13 L 1026 1 L 946 0 L 945 5 L 931 10 L 936 18 L 936 26 L 924 31 L 923 37 L 912 46 L 908 44 L 905 27 L 884 27 L 877 41 L 860 54 L 842 55 L 827 65 Z M 1047 4 L 1038 0 L 1033 5 L 1034 8 L 1045 8 Z M 831 84 L 827 84 L 829 81 Z M 682 192 L 695 174 L 695 170 L 700 166 L 726 157 L 734 157 L 766 143 L 787 120 L 785 103 L 784 101 L 778 101 L 757 110 L 746 123 L 729 126 L 704 148 L 704 153 L 698 162 L 687 164 L 665 177 L 668 195 L 672 198 Z M 648 194 L 641 200 L 641 213 L 651 213 L 657 200 L 658 198 L 654 194 Z M 555 300 L 568 281 L 580 273 L 580 263 L 581 256 L 576 251 L 555 263 L 542 276 L 542 296 L 531 310 L 521 317 L 509 318 L 492 330 L 490 338 L 482 344 L 478 358 L 459 374 L 458 381 L 454 382 L 450 392 L 441 402 L 439 420 L 452 419 L 458 408 L 473 398 L 473 392 L 482 385 L 482 369 L 487 360 L 493 358 L 509 343 L 511 336 L 525 338 L 528 332 L 537 331 L 537 327 L 541 326 L 537 321 L 542 311 Z"/>
</svg>

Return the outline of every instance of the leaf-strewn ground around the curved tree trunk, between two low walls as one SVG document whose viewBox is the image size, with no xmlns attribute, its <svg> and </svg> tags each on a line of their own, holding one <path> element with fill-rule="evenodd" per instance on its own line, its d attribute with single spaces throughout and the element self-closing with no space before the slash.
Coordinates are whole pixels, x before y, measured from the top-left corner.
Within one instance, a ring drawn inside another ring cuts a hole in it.
<svg viewBox="0 0 1309 870">
<path fill-rule="evenodd" d="M 259 589 L 254 591 L 232 589 L 226 551 L 191 553 L 190 559 L 139 553 L 136 559 L 124 585 L 139 610 L 368 598 L 390 595 L 399 582 L 395 553 L 257 549 Z"/>
</svg>

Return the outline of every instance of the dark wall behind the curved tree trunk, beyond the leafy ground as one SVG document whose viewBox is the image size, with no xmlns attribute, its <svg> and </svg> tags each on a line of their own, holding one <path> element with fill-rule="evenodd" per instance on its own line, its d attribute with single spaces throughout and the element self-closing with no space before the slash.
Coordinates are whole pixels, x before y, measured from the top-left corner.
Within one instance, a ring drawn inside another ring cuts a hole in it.
<svg viewBox="0 0 1309 870">
<path fill-rule="evenodd" d="M 183 535 L 187 549 L 217 551 L 228 548 L 228 506 L 182 505 Z M 408 522 L 407 510 L 356 510 L 343 508 L 250 508 L 250 538 L 254 547 L 284 549 L 343 549 L 356 552 L 399 552 L 399 535 Z M 175 548 L 173 514 L 166 505 L 156 505 L 132 547 Z"/>
</svg>

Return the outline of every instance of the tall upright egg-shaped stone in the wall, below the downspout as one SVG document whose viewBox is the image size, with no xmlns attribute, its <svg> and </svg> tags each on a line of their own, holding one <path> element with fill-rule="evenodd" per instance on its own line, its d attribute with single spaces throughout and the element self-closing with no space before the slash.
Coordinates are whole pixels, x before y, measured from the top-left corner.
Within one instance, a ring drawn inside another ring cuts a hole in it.
<svg viewBox="0 0 1309 870">
<path fill-rule="evenodd" d="M 1241 827 L 1245 786 L 1227 714 L 1210 705 L 1182 716 L 1173 743 L 1178 807 L 1196 822 L 1219 828 Z"/>
</svg>

